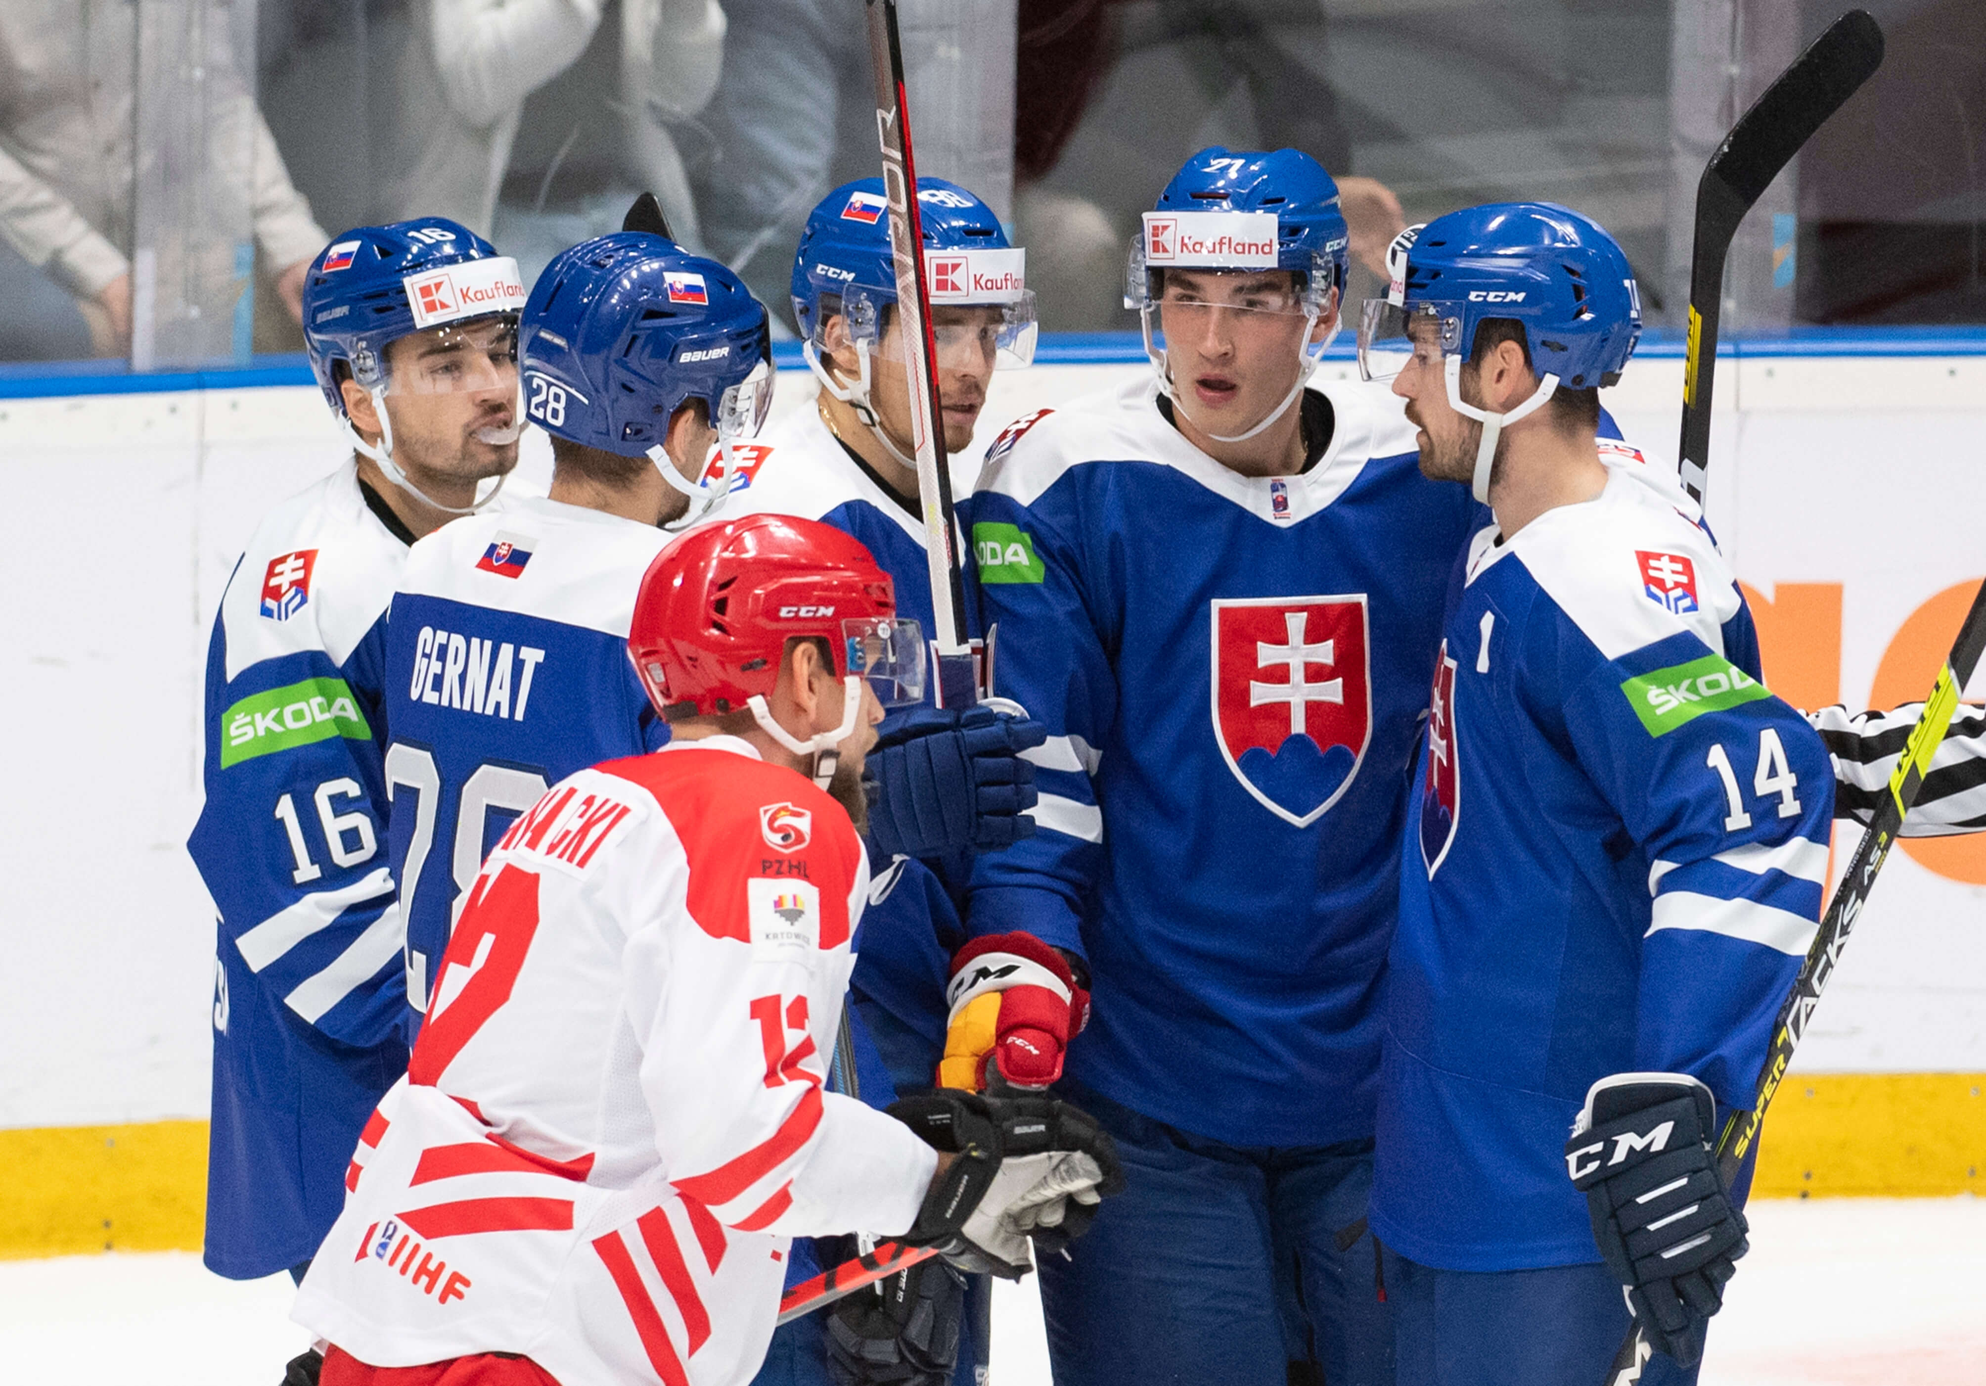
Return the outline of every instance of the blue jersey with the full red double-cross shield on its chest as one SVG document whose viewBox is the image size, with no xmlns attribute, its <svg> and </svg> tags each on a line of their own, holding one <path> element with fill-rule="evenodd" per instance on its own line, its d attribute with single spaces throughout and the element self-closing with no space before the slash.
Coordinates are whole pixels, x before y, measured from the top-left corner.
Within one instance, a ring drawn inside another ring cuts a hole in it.
<svg viewBox="0 0 1986 1386">
<path fill-rule="evenodd" d="M 1051 739 L 1041 832 L 979 858 L 969 927 L 1084 953 L 1068 1072 L 1237 1146 L 1372 1134 L 1410 757 L 1478 512 L 1382 387 L 1303 409 L 1329 445 L 1253 479 L 1128 385 L 1013 425 L 971 500 L 993 691 Z"/>
</svg>

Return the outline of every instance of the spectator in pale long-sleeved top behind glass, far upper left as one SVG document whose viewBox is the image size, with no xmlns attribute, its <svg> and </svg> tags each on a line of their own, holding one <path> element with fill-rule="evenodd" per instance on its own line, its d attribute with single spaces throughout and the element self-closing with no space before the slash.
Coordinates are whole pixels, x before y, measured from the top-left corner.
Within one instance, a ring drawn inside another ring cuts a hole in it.
<svg viewBox="0 0 1986 1386">
<path fill-rule="evenodd" d="M 131 347 L 137 64 L 129 0 L 0 4 L 0 236 L 75 300 L 97 355 Z M 232 115 L 252 119 L 248 141 L 216 139 L 214 149 L 234 159 L 220 151 L 248 149 L 248 165 L 228 173 L 242 183 L 256 244 L 296 320 L 324 230 L 246 89 L 214 89 L 222 103 L 246 105 Z M 52 336 L 66 326 L 52 320 Z"/>
</svg>

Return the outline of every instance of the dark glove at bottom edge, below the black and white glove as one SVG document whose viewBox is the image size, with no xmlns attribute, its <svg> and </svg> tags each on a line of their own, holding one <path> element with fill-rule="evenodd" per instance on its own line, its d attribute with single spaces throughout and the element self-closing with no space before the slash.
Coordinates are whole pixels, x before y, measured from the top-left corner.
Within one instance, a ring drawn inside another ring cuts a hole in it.
<svg viewBox="0 0 1986 1386">
<path fill-rule="evenodd" d="M 834 1305 L 828 1372 L 836 1386 L 945 1386 L 963 1317 L 965 1277 L 943 1257 L 920 1261 Z"/>
</svg>

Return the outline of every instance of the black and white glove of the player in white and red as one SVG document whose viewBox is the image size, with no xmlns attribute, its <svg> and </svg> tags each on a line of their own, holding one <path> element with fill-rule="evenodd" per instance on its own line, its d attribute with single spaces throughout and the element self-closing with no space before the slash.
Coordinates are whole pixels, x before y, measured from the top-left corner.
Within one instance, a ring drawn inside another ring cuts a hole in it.
<svg viewBox="0 0 1986 1386">
<path fill-rule="evenodd" d="M 898 1241 L 937 1247 L 961 1271 L 1021 1279 L 1033 1269 L 1029 1237 L 1043 1251 L 1066 1247 L 1124 1187 L 1110 1134 L 1059 1098 L 931 1088 L 890 1116 L 957 1156 Z"/>
</svg>

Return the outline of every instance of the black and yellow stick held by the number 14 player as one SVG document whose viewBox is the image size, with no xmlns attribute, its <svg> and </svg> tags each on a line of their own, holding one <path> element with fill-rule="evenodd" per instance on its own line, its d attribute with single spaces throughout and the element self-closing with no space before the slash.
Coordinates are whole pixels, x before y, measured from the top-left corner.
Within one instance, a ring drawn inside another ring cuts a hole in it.
<svg viewBox="0 0 1986 1386">
<path fill-rule="evenodd" d="M 1930 697 L 1924 699 L 1924 713 L 1916 719 L 1916 727 L 1911 729 L 1911 739 L 1905 743 L 1903 755 L 1897 757 L 1897 768 L 1889 776 L 1889 798 L 1881 800 L 1869 816 L 1869 828 L 1863 832 L 1863 840 L 1855 848 L 1847 872 L 1841 876 L 1841 886 L 1835 890 L 1835 898 L 1821 917 L 1813 945 L 1807 949 L 1807 961 L 1799 965 L 1793 989 L 1779 1005 L 1779 1017 L 1772 1023 L 1772 1050 L 1766 1054 L 1766 1066 L 1758 1074 L 1758 1096 L 1752 1100 L 1752 1110 L 1732 1112 L 1718 1134 L 1718 1176 L 1724 1179 L 1726 1189 L 1736 1183 L 1738 1172 L 1752 1152 L 1752 1142 L 1758 1140 L 1758 1128 L 1766 1120 L 1766 1106 L 1772 1104 L 1779 1082 L 1785 1078 L 1787 1064 L 1793 1062 L 1793 1048 L 1807 1033 L 1807 1021 L 1813 1019 L 1815 1003 L 1827 991 L 1827 983 L 1833 981 L 1841 949 L 1847 947 L 1849 933 L 1855 929 L 1863 905 L 1869 903 L 1869 888 L 1875 886 L 1875 874 L 1889 860 L 1889 848 L 1897 842 L 1903 818 L 1911 812 L 1911 804 L 1916 802 L 1916 792 L 1924 786 L 1924 776 L 1930 774 L 1930 761 L 1938 755 L 1944 733 L 1952 725 L 1952 713 L 1958 709 L 1958 693 L 1972 679 L 1974 669 L 1978 669 L 1982 651 L 1986 651 L 1986 582 L 1980 584 L 1978 596 L 1972 598 L 1972 610 L 1966 612 L 1966 620 L 1958 627 L 1952 653 L 1938 671 L 1938 681 L 1932 685 Z M 1640 1322 L 1636 1322 L 1627 1342 L 1615 1354 L 1613 1366 L 1607 1368 L 1607 1386 L 1638 1382 L 1642 1366 L 1646 1366 L 1652 1354 L 1654 1348 L 1640 1330 Z"/>
</svg>

